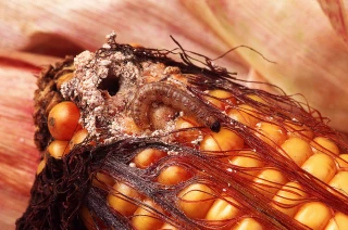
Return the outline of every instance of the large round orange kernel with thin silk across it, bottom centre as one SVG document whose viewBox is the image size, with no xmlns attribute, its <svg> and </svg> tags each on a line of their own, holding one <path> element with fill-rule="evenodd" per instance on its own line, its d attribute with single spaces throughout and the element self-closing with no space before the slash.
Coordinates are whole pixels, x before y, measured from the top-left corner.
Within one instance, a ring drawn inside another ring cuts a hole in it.
<svg viewBox="0 0 348 230">
<path fill-rule="evenodd" d="M 178 204 L 189 218 L 204 218 L 214 203 L 214 192 L 208 186 L 194 183 L 178 193 Z"/>
</svg>

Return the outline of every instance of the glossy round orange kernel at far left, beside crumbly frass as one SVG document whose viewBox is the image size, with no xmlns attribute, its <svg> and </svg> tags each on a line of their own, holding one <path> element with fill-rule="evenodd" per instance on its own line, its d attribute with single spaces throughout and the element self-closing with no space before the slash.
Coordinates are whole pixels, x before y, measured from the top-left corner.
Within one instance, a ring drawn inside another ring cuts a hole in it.
<svg viewBox="0 0 348 230">
<path fill-rule="evenodd" d="M 48 128 L 54 139 L 69 141 L 82 128 L 78 119 L 78 107 L 73 102 L 61 102 L 50 111 Z"/>
</svg>

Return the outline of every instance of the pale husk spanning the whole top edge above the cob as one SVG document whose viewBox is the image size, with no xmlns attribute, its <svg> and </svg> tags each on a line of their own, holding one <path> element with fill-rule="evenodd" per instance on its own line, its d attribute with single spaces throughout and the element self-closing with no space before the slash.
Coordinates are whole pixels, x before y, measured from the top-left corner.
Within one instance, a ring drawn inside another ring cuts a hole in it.
<svg viewBox="0 0 348 230">
<path fill-rule="evenodd" d="M 239 77 L 251 66 L 288 94 L 302 93 L 331 126 L 347 131 L 341 125 L 348 112 L 345 5 L 338 0 L 5 2 L 0 47 L 64 56 L 95 50 L 111 30 L 120 42 L 166 49 L 175 47 L 172 35 L 187 50 L 212 59 L 246 44 L 276 64 L 248 49 L 220 64 L 239 63 L 233 69 Z"/>
</svg>

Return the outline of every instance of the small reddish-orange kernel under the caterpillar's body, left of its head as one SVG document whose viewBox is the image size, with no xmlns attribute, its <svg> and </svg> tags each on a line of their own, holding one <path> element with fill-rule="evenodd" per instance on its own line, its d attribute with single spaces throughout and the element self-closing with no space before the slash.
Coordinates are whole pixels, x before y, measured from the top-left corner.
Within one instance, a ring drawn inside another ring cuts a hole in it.
<svg viewBox="0 0 348 230">
<path fill-rule="evenodd" d="M 175 130 L 179 129 L 188 129 L 192 127 L 198 127 L 198 123 L 190 117 L 178 117 L 175 120 Z M 175 139 L 179 141 L 181 143 L 191 143 L 192 141 L 197 140 L 197 138 L 200 136 L 200 131 L 197 129 L 191 130 L 185 130 L 179 131 L 175 133 Z"/>
</svg>

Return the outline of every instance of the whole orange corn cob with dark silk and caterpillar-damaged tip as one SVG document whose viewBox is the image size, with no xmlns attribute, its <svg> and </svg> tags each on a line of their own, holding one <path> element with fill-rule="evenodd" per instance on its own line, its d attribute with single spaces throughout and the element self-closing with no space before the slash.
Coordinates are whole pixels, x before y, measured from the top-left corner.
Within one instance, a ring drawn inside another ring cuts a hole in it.
<svg viewBox="0 0 348 230">
<path fill-rule="evenodd" d="M 347 144 L 320 114 L 175 52 L 111 35 L 41 74 L 17 228 L 347 228 Z"/>
</svg>

